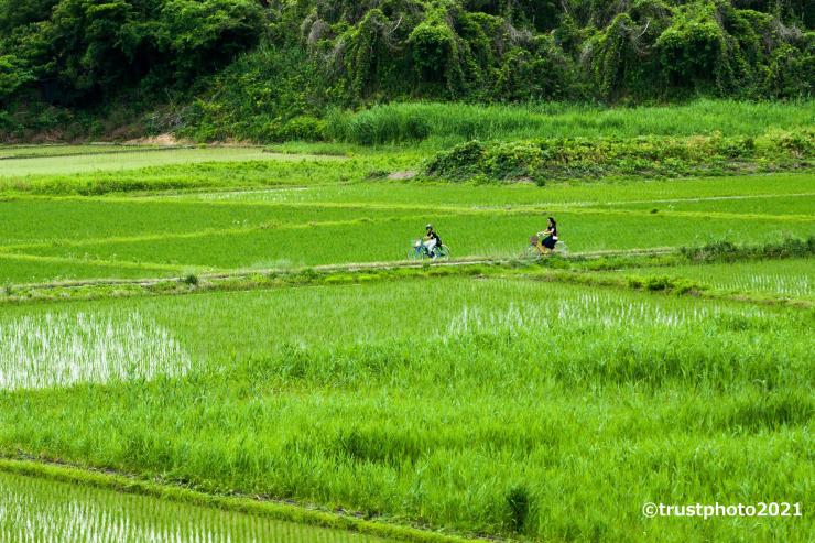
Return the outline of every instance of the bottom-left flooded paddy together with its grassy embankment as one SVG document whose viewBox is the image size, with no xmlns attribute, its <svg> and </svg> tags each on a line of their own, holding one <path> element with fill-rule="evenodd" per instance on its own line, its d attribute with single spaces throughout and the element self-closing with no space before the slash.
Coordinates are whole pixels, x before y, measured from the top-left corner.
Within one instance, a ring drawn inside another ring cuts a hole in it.
<svg viewBox="0 0 815 543">
<path fill-rule="evenodd" d="M 117 543 L 468 541 L 291 503 L 205 495 L 64 465 L 0 460 L 0 481 L 3 541 L 22 543 L 66 534 Z M 21 525 L 26 528 L 24 533 Z"/>
</svg>

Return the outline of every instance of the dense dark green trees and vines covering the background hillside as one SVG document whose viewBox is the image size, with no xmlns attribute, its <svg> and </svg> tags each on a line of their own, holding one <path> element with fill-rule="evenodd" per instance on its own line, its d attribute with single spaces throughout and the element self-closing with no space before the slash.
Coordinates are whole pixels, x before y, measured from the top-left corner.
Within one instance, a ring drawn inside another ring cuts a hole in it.
<svg viewBox="0 0 815 543">
<path fill-rule="evenodd" d="M 394 100 L 806 99 L 814 12 L 806 0 L 0 0 L 0 132 L 318 140 L 333 110 Z"/>
</svg>

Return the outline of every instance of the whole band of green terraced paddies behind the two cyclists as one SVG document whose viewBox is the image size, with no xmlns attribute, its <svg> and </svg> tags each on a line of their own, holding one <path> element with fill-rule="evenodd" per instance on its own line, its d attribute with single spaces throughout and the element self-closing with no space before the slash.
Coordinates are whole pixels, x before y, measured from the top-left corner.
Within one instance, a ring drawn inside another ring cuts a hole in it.
<svg viewBox="0 0 815 543">
<path fill-rule="evenodd" d="M 760 243 L 814 235 L 813 191 L 807 174 L 779 174 L 601 191 L 590 183 L 541 191 L 359 182 L 161 197 L 15 195 L 0 202 L 0 281 L 392 261 L 425 222 L 457 257 L 512 258 L 548 215 L 577 252 Z M 48 261 L 58 265 L 46 271 Z"/>
</svg>

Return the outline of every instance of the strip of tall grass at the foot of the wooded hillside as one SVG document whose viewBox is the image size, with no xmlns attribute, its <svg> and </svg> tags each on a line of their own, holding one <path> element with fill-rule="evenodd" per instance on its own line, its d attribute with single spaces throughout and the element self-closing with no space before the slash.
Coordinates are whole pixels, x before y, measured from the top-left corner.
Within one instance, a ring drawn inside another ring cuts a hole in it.
<svg viewBox="0 0 815 543">
<path fill-rule="evenodd" d="M 480 139 L 564 137 L 758 135 L 771 129 L 811 128 L 815 101 L 740 102 L 697 100 L 683 106 L 606 108 L 567 104 L 480 106 L 411 102 L 374 106 L 359 112 L 335 111 L 329 134 L 359 144 L 416 142 L 447 146 Z"/>
</svg>

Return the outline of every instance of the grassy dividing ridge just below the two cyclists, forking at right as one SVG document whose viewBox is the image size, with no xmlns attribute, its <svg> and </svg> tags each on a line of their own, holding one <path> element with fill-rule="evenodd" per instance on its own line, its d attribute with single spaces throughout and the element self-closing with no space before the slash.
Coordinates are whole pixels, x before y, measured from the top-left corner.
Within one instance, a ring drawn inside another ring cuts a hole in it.
<svg viewBox="0 0 815 543">
<path fill-rule="evenodd" d="M 639 275 L 609 275 L 608 271 L 631 269 L 637 271 L 651 260 L 652 264 L 671 269 L 672 259 L 682 258 L 675 248 L 634 249 L 628 251 L 594 251 L 572 253 L 566 260 L 575 262 L 593 259 L 620 258 L 619 262 L 607 262 L 598 269 L 564 269 L 559 267 L 533 265 L 534 261 L 517 258 L 470 257 L 447 262 L 367 262 L 356 264 L 328 264 L 306 268 L 250 269 L 229 272 L 187 275 L 185 278 L 155 278 L 130 280 L 79 280 L 40 284 L 8 285 L 0 293 L 0 305 L 59 302 L 69 300 L 101 300 L 110 297 L 134 297 L 154 295 L 185 295 L 206 292 L 252 291 L 267 289 L 294 289 L 340 284 L 360 284 L 368 281 L 427 279 L 431 276 L 478 276 L 480 279 L 512 279 L 574 284 L 583 287 L 615 289 L 659 295 L 689 295 L 711 301 L 728 301 L 752 305 L 778 305 L 812 308 L 811 300 L 797 296 L 756 295 L 745 291 L 718 289 L 683 278 L 670 278 L 663 283 L 651 285 Z M 631 260 L 631 259 L 634 260 Z M 665 260 L 667 259 L 667 260 Z M 609 268 L 609 265 L 611 268 Z M 445 272 L 445 269 L 448 270 Z M 404 270 L 410 273 L 398 273 Z M 460 271 L 455 271 L 460 270 Z M 366 273 L 368 272 L 368 273 Z M 413 273 L 416 272 L 416 273 Z M 393 275 L 395 273 L 395 275 Z"/>
</svg>

